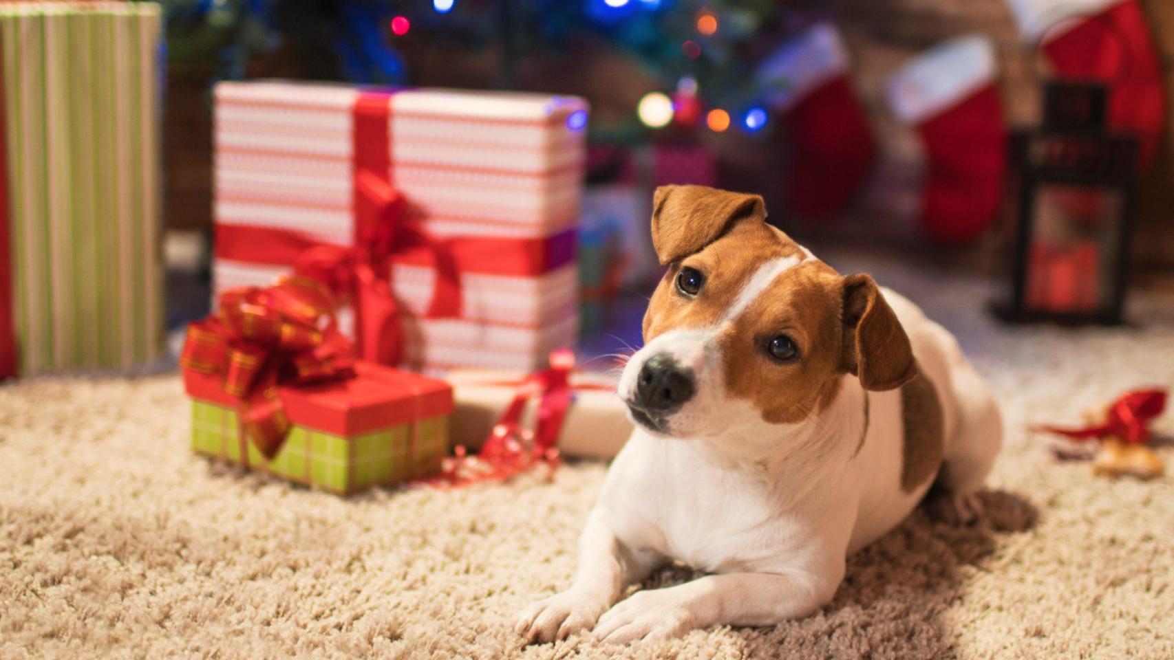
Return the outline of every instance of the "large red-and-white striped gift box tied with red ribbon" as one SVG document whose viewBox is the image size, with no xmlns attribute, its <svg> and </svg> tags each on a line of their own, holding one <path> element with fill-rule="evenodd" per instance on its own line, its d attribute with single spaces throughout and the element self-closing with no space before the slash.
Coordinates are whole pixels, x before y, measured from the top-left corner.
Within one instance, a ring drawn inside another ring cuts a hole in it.
<svg viewBox="0 0 1174 660">
<path fill-rule="evenodd" d="M 290 244 L 362 241 L 375 171 L 459 273 L 459 313 L 430 318 L 433 253 L 391 256 L 402 365 L 531 370 L 574 343 L 582 100 L 256 81 L 218 84 L 215 108 L 217 291 L 289 272 Z"/>
</svg>

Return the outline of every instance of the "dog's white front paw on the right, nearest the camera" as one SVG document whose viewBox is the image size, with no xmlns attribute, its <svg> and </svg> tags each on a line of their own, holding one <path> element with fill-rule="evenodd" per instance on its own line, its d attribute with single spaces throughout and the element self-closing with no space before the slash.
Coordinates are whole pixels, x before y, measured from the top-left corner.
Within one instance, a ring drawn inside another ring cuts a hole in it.
<svg viewBox="0 0 1174 660">
<path fill-rule="evenodd" d="M 628 644 L 637 639 L 660 641 L 683 635 L 697 627 L 696 617 L 672 590 L 637 591 L 608 610 L 595 626 L 594 637 L 605 644 Z"/>
</svg>

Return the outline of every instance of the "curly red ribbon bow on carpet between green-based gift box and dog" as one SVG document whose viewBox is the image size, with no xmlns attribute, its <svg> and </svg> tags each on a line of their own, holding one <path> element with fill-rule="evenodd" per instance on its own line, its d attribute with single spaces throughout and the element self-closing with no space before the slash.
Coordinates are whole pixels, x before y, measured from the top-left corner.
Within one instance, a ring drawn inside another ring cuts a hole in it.
<svg viewBox="0 0 1174 660">
<path fill-rule="evenodd" d="M 498 423 L 485 440 L 475 456 L 468 456 L 464 447 L 456 449 L 456 456 L 446 458 L 440 475 L 427 479 L 438 487 L 452 488 L 484 481 L 505 481 L 535 465 L 553 469 L 559 463 L 555 444 L 562 431 L 562 421 L 574 399 L 575 389 L 610 389 L 591 385 L 571 385 L 571 373 L 575 367 L 575 355 L 569 349 L 551 353 L 551 367 L 529 375 L 520 382 L 502 382 L 517 386 L 518 394 L 506 407 Z M 521 417 L 526 404 L 538 396 L 538 414 L 533 431 L 522 428 Z"/>
</svg>

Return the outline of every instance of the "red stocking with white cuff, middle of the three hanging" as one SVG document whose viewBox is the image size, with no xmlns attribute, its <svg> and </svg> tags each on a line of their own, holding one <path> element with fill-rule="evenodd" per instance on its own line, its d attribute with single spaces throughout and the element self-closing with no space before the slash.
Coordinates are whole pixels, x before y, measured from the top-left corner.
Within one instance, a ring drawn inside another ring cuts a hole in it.
<svg viewBox="0 0 1174 660">
<path fill-rule="evenodd" d="M 938 243 L 973 241 L 998 215 L 1006 169 L 991 42 L 963 36 L 920 55 L 890 80 L 889 103 L 925 148 L 922 229 Z"/>
</svg>

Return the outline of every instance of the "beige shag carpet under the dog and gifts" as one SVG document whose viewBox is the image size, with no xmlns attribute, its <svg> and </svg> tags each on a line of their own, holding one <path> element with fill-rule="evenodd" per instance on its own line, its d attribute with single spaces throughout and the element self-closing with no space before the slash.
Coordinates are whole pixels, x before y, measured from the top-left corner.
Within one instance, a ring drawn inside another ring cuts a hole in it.
<svg viewBox="0 0 1174 660">
<path fill-rule="evenodd" d="M 924 281 L 888 278 L 1005 406 L 987 516 L 918 512 L 808 619 L 526 647 L 506 622 L 569 584 L 603 464 L 340 499 L 194 456 L 174 375 L 45 377 L 0 388 L 0 658 L 1174 658 L 1174 478 L 1094 478 L 1024 430 L 1174 385 L 1174 306 L 1135 308 L 1140 328 L 1007 332 L 980 285 Z"/>
</svg>

